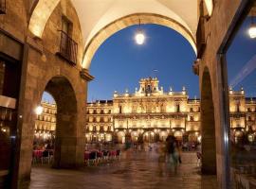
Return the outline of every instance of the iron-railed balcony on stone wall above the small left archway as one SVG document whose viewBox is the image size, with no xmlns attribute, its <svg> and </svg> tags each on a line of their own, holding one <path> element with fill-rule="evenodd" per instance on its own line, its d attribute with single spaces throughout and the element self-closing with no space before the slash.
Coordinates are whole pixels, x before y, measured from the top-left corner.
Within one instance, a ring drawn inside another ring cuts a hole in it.
<svg viewBox="0 0 256 189">
<path fill-rule="evenodd" d="M 1 1 L 1 0 L 0 0 Z M 71 65 L 77 64 L 78 43 L 70 38 L 64 31 L 61 32 L 60 51 L 57 53 Z"/>
</svg>

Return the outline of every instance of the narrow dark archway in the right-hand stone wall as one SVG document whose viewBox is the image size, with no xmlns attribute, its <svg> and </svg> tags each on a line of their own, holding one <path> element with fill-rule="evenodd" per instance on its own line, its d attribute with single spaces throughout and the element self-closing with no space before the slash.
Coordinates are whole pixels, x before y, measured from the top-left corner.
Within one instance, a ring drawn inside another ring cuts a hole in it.
<svg viewBox="0 0 256 189">
<path fill-rule="evenodd" d="M 209 69 L 206 67 L 201 82 L 201 134 L 203 174 L 216 174 L 215 119 L 212 99 L 212 85 Z"/>
</svg>

